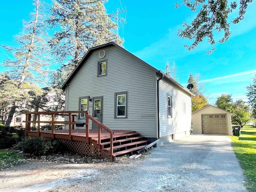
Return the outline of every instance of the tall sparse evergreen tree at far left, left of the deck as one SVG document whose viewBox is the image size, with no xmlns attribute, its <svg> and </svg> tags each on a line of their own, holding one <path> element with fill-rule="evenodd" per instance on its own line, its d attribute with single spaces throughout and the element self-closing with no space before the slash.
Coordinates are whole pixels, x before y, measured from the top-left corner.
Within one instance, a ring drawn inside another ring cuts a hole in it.
<svg viewBox="0 0 256 192">
<path fill-rule="evenodd" d="M 24 23 L 24 32 L 15 37 L 18 48 L 2 45 L 14 56 L 14 59 L 6 59 L 1 64 L 8 68 L 4 74 L 8 80 L 0 84 L 0 100 L 4 101 L 6 107 L 10 107 L 7 126 L 10 125 L 16 110 L 26 110 L 26 103 L 44 92 L 38 84 L 45 82 L 44 75 L 47 74 L 48 58 L 44 57 L 47 52 L 47 34 L 39 0 L 35 1 L 35 6 L 32 21 Z"/>
</svg>

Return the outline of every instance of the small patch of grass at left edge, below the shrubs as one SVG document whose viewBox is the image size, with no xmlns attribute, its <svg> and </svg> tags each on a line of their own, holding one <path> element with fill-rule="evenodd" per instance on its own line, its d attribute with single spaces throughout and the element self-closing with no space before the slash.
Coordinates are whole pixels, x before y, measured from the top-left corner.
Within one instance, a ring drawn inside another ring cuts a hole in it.
<svg viewBox="0 0 256 192">
<path fill-rule="evenodd" d="M 22 155 L 7 150 L 0 150 L 0 170 L 22 162 L 24 162 Z"/>
</svg>

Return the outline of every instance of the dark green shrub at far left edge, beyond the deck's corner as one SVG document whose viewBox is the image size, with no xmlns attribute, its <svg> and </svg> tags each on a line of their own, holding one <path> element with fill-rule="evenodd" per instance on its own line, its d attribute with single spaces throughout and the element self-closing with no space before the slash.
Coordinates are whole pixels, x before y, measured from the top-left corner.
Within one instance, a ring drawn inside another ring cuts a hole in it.
<svg viewBox="0 0 256 192">
<path fill-rule="evenodd" d="M 0 149 L 12 147 L 25 137 L 22 126 L 0 126 Z"/>
</svg>

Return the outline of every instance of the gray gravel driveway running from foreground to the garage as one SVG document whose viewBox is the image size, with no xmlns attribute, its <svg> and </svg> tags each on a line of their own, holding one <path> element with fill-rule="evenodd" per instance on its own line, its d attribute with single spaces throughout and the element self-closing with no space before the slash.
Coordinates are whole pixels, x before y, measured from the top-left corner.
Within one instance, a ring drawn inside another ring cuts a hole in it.
<svg viewBox="0 0 256 192">
<path fill-rule="evenodd" d="M 39 171 L 35 170 L 36 163 L 30 163 L 29 170 L 28 165 L 15 166 L 0 172 L 0 191 L 247 191 L 230 143 L 228 136 L 190 135 L 154 148 L 136 160 L 98 164 L 45 162 Z"/>
</svg>

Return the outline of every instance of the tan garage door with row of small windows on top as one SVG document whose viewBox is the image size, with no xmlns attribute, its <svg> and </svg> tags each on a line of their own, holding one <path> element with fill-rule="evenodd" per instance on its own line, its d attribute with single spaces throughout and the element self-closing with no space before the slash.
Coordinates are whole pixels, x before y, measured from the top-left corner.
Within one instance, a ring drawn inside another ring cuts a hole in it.
<svg viewBox="0 0 256 192">
<path fill-rule="evenodd" d="M 202 115 L 203 134 L 228 134 L 227 116 L 225 114 Z"/>
</svg>

